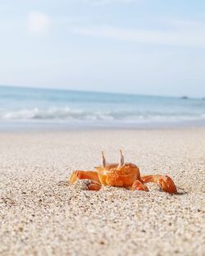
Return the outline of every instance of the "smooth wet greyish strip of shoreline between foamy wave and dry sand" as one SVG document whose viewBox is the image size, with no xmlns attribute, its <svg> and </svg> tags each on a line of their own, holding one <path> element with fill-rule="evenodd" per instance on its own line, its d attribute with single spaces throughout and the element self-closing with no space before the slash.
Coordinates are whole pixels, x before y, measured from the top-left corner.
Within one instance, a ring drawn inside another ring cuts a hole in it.
<svg viewBox="0 0 205 256">
<path fill-rule="evenodd" d="M 204 128 L 205 120 L 170 121 L 147 123 L 102 123 L 102 122 L 62 122 L 62 121 L 0 121 L 0 132 L 4 131 L 83 131 L 83 130 L 166 130 Z"/>
</svg>

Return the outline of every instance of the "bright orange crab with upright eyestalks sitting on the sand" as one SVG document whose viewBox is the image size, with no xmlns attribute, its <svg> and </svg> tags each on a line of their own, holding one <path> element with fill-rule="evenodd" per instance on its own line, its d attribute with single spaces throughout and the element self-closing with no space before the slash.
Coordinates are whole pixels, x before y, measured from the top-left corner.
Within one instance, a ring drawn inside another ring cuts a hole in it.
<svg viewBox="0 0 205 256">
<path fill-rule="evenodd" d="M 130 190 L 148 191 L 145 185 L 153 182 L 170 194 L 177 194 L 174 181 L 170 176 L 147 175 L 141 176 L 139 167 L 134 163 L 125 162 L 122 151 L 120 163 L 107 163 L 102 152 L 102 165 L 95 167 L 95 171 L 73 171 L 69 178 L 71 184 L 77 180 L 89 180 L 88 190 L 100 190 L 103 185 L 125 187 Z"/>
</svg>

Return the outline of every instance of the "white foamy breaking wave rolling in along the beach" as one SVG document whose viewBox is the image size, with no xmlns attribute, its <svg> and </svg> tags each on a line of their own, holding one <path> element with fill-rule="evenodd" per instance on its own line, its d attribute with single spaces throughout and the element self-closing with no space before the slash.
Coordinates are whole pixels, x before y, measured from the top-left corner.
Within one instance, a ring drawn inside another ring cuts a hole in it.
<svg viewBox="0 0 205 256">
<path fill-rule="evenodd" d="M 48 107 L 40 109 L 23 108 L 19 110 L 0 110 L 0 120 L 36 120 L 36 121 L 190 121 L 205 120 L 205 113 L 175 113 L 175 112 L 138 112 L 126 110 L 90 111 L 71 109 L 70 107 Z"/>
</svg>

